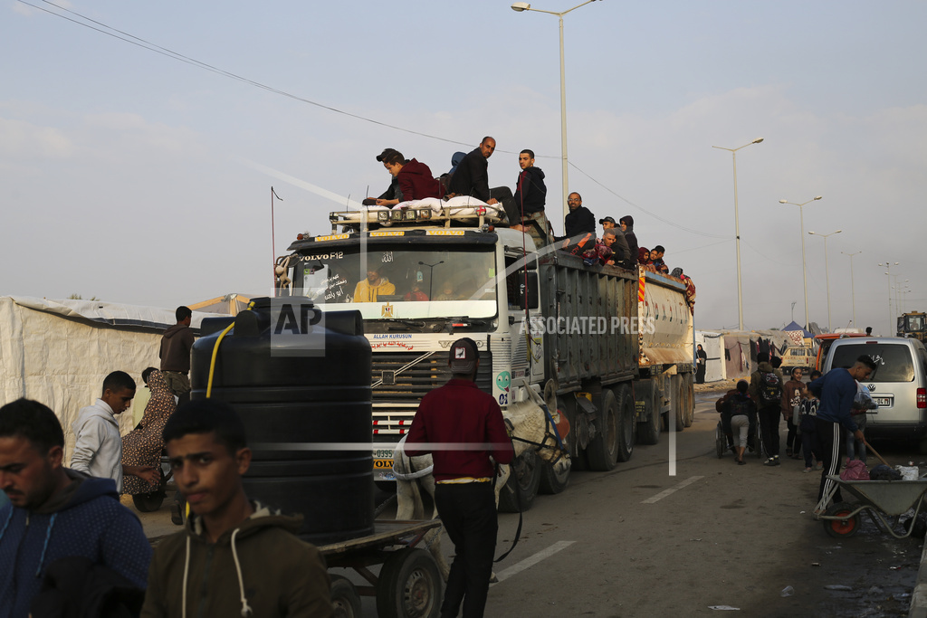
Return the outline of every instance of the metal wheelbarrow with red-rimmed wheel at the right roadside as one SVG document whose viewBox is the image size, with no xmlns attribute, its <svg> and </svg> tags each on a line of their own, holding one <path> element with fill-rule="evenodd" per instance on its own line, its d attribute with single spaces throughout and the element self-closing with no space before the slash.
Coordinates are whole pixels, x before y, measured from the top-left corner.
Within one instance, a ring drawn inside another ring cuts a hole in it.
<svg viewBox="0 0 927 618">
<path fill-rule="evenodd" d="M 859 513 L 867 511 L 873 522 L 881 524 L 895 538 L 905 538 L 914 529 L 914 522 L 921 512 L 924 492 L 927 492 L 927 479 L 917 481 L 844 481 L 836 474 L 827 478 L 834 483 L 821 502 L 827 504 L 838 489 L 849 492 L 858 500 L 856 504 L 838 502 L 829 509 L 819 512 L 816 517 L 824 523 L 824 530 L 835 538 L 845 538 L 857 534 L 859 530 Z M 914 515 L 905 534 L 895 532 L 901 515 L 914 509 Z"/>
</svg>

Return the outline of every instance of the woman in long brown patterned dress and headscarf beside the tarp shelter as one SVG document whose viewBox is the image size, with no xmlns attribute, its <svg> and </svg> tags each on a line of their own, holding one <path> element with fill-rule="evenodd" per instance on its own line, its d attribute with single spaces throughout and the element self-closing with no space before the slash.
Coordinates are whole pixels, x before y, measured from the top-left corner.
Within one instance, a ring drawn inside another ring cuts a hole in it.
<svg viewBox="0 0 927 618">
<path fill-rule="evenodd" d="M 161 449 L 164 438 L 161 432 L 173 411 L 177 409 L 173 393 L 161 372 L 148 374 L 148 389 L 151 397 L 145 407 L 139 426 L 122 436 L 122 463 L 130 466 L 160 467 Z M 150 494 L 158 491 L 160 481 L 147 483 L 138 476 L 126 475 L 122 482 L 122 492 L 126 494 Z"/>
</svg>

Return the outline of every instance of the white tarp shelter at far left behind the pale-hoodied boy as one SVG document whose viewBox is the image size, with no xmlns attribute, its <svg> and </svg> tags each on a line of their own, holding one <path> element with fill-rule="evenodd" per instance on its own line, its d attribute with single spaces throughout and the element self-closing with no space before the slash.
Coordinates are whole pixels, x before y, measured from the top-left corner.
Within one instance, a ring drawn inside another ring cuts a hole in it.
<svg viewBox="0 0 927 618">
<path fill-rule="evenodd" d="M 210 316 L 194 311 L 195 332 Z M 70 460 L 78 411 L 100 396 L 110 372 L 127 372 L 144 387 L 142 370 L 159 366 L 161 334 L 176 322 L 174 309 L 0 296 L 0 405 L 27 397 L 55 410 Z M 131 410 L 120 417 L 125 434 Z"/>
</svg>

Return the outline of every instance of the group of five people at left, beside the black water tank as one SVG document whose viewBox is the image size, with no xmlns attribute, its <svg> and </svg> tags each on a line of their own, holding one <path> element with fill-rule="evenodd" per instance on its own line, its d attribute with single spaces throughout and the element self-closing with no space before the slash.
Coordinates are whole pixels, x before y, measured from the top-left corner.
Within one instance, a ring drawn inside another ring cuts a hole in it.
<svg viewBox="0 0 927 618">
<path fill-rule="evenodd" d="M 53 410 L 27 398 L 0 408 L 0 618 L 332 615 L 324 559 L 295 536 L 302 516 L 245 494 L 251 452 L 235 410 L 188 400 L 192 312 L 175 315 L 160 368 L 142 372 L 139 422 L 120 435 L 136 384 L 110 372 L 72 425 L 70 467 Z M 120 494 L 158 492 L 164 450 L 189 517 L 153 551 Z"/>
</svg>

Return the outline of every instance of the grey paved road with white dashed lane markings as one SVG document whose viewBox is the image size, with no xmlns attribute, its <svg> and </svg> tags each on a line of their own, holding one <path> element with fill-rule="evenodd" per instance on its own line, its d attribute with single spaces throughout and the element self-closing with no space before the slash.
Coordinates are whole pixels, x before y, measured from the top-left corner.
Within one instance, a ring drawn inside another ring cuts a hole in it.
<svg viewBox="0 0 927 618">
<path fill-rule="evenodd" d="M 907 615 L 921 541 L 871 524 L 849 539 L 827 536 L 809 514 L 819 475 L 802 473 L 797 460 L 768 468 L 717 459 L 716 396 L 697 398 L 691 428 L 636 447 L 611 473 L 573 473 L 563 494 L 536 500 L 517 548 L 497 566 L 488 616 L 708 615 L 719 605 L 749 616 Z M 893 464 L 916 458 L 883 450 Z M 175 529 L 166 509 L 145 524 L 149 536 Z M 517 524 L 517 515 L 500 516 L 497 554 Z M 443 549 L 450 556 L 446 537 Z M 786 586 L 794 593 L 782 597 Z M 363 606 L 376 615 L 373 599 Z"/>
</svg>

